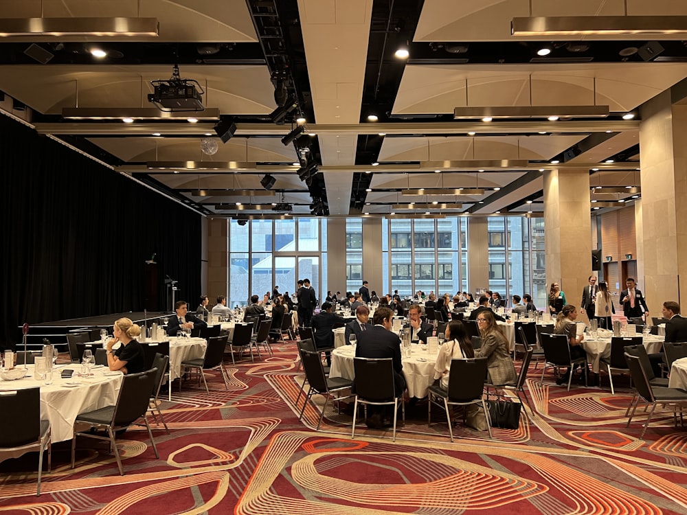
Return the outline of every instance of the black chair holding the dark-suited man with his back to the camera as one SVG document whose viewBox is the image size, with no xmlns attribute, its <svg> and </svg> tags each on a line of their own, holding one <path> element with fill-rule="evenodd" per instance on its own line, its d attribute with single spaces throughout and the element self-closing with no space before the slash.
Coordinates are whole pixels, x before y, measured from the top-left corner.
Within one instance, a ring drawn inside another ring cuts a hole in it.
<svg viewBox="0 0 687 515">
<path fill-rule="evenodd" d="M 394 381 L 393 358 L 353 358 L 355 394 L 353 406 L 353 428 L 350 437 L 355 437 L 355 422 L 358 404 L 367 407 L 394 406 L 393 441 L 396 442 L 396 419 L 398 406 L 405 422 L 405 391 L 397 392 Z"/>
</svg>

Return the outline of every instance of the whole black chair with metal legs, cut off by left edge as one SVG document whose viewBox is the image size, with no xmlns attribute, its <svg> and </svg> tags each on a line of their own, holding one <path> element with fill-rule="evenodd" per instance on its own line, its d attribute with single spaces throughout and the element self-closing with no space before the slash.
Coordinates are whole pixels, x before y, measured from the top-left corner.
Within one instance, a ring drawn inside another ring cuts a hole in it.
<svg viewBox="0 0 687 515">
<path fill-rule="evenodd" d="M 40 496 L 43 451 L 47 449 L 48 472 L 52 460 L 50 422 L 41 420 L 41 389 L 0 391 L 0 413 L 5 420 L 0 424 L 0 461 L 38 450 L 36 496 Z"/>
</svg>

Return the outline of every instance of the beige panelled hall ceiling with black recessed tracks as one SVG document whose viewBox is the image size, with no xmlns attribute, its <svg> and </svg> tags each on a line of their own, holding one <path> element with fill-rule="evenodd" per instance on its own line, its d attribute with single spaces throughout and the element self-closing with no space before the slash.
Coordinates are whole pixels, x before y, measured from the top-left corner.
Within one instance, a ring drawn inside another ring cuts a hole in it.
<svg viewBox="0 0 687 515">
<path fill-rule="evenodd" d="M 545 169 L 589 170 L 594 189 L 640 185 L 640 121 L 621 116 L 687 77 L 687 47 L 679 36 L 657 34 L 515 38 L 510 21 L 530 10 L 532 16 L 622 16 L 626 5 L 631 15 L 687 15 L 687 3 L 671 0 L 3 3 L 3 18 L 41 12 L 46 18 L 157 17 L 159 36 L 0 38 L 0 108 L 208 216 L 279 214 L 273 203 L 311 214 L 317 198 L 331 216 L 537 214 Z M 409 58 L 398 59 L 394 52 L 404 43 Z M 551 47 L 548 56 L 537 55 L 543 44 Z M 94 58 L 93 45 L 108 55 Z M 647 47 L 658 51 L 647 57 Z M 206 112 L 215 117 L 177 113 L 198 116 L 195 124 L 63 117 L 69 108 L 151 108 L 150 81 L 170 78 L 174 64 L 182 78 L 199 82 Z M 276 124 L 271 113 L 282 83 L 297 108 Z M 553 122 L 519 115 L 490 123 L 453 117 L 454 108 L 484 106 L 521 112 L 608 106 L 610 115 Z M 284 145 L 297 115 L 306 119 L 304 133 Z M 218 141 L 220 119 L 234 122 L 236 132 L 209 155 L 201 140 Z M 293 164 L 299 157 L 317 164 L 309 186 Z M 170 161 L 176 164 L 149 168 Z M 229 162 L 237 164 L 217 164 Z M 270 192 L 260 183 L 265 174 L 275 178 Z M 403 194 L 420 188 L 427 194 Z M 434 188 L 484 193 L 439 196 L 431 194 Z M 631 201 L 632 195 L 595 192 L 593 198 Z M 460 207 L 439 209 L 434 201 Z M 412 202 L 430 207 L 399 207 Z"/>
</svg>

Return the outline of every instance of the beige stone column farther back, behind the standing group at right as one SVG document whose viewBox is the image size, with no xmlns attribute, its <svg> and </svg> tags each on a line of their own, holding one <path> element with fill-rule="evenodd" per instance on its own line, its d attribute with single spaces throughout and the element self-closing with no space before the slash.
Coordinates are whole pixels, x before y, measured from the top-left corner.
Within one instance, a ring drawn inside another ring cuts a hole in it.
<svg viewBox="0 0 687 515">
<path fill-rule="evenodd" d="M 578 308 L 592 275 L 589 205 L 589 168 L 544 172 L 547 291 L 558 282 L 567 303 Z"/>
</svg>

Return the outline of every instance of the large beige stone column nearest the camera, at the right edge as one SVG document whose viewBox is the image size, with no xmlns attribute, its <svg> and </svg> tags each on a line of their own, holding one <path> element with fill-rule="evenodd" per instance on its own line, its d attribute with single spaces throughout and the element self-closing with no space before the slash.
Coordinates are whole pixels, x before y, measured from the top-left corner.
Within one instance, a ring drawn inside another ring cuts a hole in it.
<svg viewBox="0 0 687 515">
<path fill-rule="evenodd" d="M 663 302 L 679 302 L 687 288 L 687 106 L 672 104 L 666 91 L 646 102 L 641 115 L 642 224 L 637 238 L 644 242 L 644 277 L 637 279 L 651 315 L 660 317 Z"/>
</svg>

